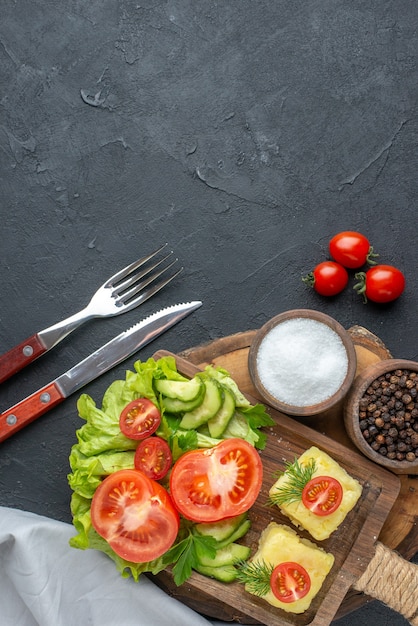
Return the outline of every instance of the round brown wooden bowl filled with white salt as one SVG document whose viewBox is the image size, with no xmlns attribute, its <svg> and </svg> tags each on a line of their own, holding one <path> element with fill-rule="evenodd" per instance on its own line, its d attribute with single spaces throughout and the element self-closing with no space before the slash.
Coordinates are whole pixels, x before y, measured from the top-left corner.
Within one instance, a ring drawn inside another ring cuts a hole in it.
<svg viewBox="0 0 418 626">
<path fill-rule="evenodd" d="M 264 402 L 299 417 L 343 400 L 356 367 L 350 334 L 334 318 L 310 309 L 285 311 L 266 322 L 248 354 L 250 378 Z"/>
</svg>

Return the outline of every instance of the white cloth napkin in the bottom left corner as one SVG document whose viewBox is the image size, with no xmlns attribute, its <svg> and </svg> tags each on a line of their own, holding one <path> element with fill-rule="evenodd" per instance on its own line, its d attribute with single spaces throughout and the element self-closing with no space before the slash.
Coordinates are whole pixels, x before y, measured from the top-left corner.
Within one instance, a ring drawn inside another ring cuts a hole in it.
<svg viewBox="0 0 418 626">
<path fill-rule="evenodd" d="M 70 524 L 0 507 L 1 626 L 230 626 L 209 621 L 145 576 L 122 578 Z"/>
</svg>

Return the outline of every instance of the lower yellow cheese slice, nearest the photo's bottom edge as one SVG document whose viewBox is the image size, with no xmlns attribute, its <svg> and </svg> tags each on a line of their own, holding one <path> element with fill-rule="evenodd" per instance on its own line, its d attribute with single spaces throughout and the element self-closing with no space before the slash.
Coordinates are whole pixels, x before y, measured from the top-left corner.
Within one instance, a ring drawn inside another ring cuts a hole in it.
<svg viewBox="0 0 418 626">
<path fill-rule="evenodd" d="M 309 539 L 299 537 L 293 528 L 271 522 L 261 533 L 258 550 L 251 563 L 276 567 L 289 562 L 301 565 L 309 575 L 308 593 L 293 602 L 282 602 L 271 590 L 261 597 L 287 613 L 303 613 L 321 589 L 334 564 L 334 556 Z M 251 593 L 248 585 L 245 589 Z"/>
</svg>

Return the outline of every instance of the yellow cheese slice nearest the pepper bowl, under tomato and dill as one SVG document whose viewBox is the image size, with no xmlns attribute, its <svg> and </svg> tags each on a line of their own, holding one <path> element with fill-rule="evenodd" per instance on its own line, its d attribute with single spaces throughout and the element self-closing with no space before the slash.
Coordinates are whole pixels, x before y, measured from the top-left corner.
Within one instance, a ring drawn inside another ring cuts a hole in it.
<svg viewBox="0 0 418 626">
<path fill-rule="evenodd" d="M 311 459 L 315 461 L 315 472 L 312 477 L 330 476 L 336 478 L 343 489 L 341 504 L 336 511 L 329 515 L 316 515 L 309 510 L 301 500 L 281 504 L 279 509 L 299 528 L 307 530 L 314 539 L 322 541 L 328 539 L 339 525 L 344 521 L 347 514 L 354 508 L 362 493 L 360 483 L 350 476 L 326 452 L 312 446 L 299 458 L 300 465 L 307 465 Z M 270 489 L 270 496 L 289 483 L 289 474 L 284 472 Z"/>
</svg>

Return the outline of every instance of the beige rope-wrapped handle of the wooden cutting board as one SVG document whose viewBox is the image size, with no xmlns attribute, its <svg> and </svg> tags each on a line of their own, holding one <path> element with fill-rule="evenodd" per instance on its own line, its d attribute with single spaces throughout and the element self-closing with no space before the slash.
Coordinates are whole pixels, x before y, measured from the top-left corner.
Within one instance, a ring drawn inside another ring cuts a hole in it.
<svg viewBox="0 0 418 626">
<path fill-rule="evenodd" d="M 376 552 L 354 585 L 418 626 L 418 566 L 377 542 Z"/>
</svg>

